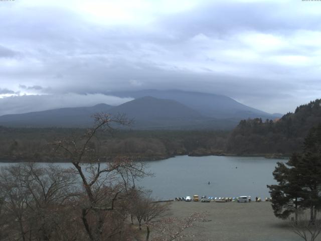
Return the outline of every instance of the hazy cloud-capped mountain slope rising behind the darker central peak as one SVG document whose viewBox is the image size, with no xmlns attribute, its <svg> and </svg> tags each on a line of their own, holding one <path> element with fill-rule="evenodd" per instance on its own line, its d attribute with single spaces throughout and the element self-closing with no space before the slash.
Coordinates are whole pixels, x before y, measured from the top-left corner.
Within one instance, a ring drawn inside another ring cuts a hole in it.
<svg viewBox="0 0 321 241">
<path fill-rule="evenodd" d="M 155 98 L 176 100 L 186 106 L 199 111 L 201 114 L 214 118 L 235 118 L 238 121 L 246 118 L 275 118 L 280 115 L 270 114 L 236 100 L 217 94 L 181 91 L 181 90 L 139 90 L 139 91 L 118 91 L 109 94 L 119 97 L 140 98 L 142 96 L 152 96 Z"/>
</svg>

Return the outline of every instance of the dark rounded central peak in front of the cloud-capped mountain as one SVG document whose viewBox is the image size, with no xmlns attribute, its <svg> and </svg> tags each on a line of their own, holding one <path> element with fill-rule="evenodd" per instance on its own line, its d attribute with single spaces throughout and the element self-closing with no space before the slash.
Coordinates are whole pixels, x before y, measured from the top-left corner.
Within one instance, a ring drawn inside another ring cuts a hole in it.
<svg viewBox="0 0 321 241">
<path fill-rule="evenodd" d="M 180 130 L 180 129 L 232 129 L 234 120 L 220 120 L 202 115 L 186 105 L 170 99 L 145 96 L 113 107 L 109 111 L 116 115 L 126 113 L 134 119 L 133 129 Z"/>
</svg>

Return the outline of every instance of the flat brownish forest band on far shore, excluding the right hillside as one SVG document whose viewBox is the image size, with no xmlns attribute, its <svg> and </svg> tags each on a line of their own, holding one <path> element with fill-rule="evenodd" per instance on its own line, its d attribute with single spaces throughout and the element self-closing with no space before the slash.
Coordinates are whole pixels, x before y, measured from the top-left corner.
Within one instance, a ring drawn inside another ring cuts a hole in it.
<svg viewBox="0 0 321 241">
<path fill-rule="evenodd" d="M 84 129 L 0 127 L 0 160 L 53 161 L 51 143 L 79 138 Z M 224 152 L 227 131 L 124 131 L 100 132 L 94 142 L 106 158 L 130 156 L 157 160 L 176 155 L 215 155 Z M 57 160 L 55 157 L 54 161 Z"/>
</svg>

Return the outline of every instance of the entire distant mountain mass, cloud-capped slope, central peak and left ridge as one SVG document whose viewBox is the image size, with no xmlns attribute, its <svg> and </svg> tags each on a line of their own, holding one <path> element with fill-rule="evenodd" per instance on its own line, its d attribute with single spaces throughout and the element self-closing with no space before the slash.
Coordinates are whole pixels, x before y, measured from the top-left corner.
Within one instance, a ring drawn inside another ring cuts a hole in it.
<svg viewBox="0 0 321 241">
<path fill-rule="evenodd" d="M 180 90 L 115 92 L 135 98 L 118 106 L 59 108 L 0 116 L 0 125 L 12 127 L 89 127 L 95 112 L 126 114 L 133 129 L 232 129 L 241 119 L 275 118 L 223 95 Z M 143 96 L 143 95 L 152 96 Z M 141 97 L 142 96 L 142 97 Z"/>
</svg>

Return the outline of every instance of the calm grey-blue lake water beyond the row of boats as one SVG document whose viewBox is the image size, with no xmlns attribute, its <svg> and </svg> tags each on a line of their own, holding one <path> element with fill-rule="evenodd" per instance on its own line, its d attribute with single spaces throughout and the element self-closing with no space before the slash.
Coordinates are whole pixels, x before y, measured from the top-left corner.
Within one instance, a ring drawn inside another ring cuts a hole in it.
<svg viewBox="0 0 321 241">
<path fill-rule="evenodd" d="M 274 184 L 272 172 L 278 159 L 263 157 L 189 157 L 177 156 L 147 162 L 154 177 L 146 177 L 139 186 L 152 190 L 159 199 L 192 196 L 237 197 L 269 196 L 267 184 Z M 0 163 L 1 166 L 12 165 Z M 60 163 L 70 167 L 69 163 Z M 210 182 L 210 184 L 208 184 Z"/>
</svg>

